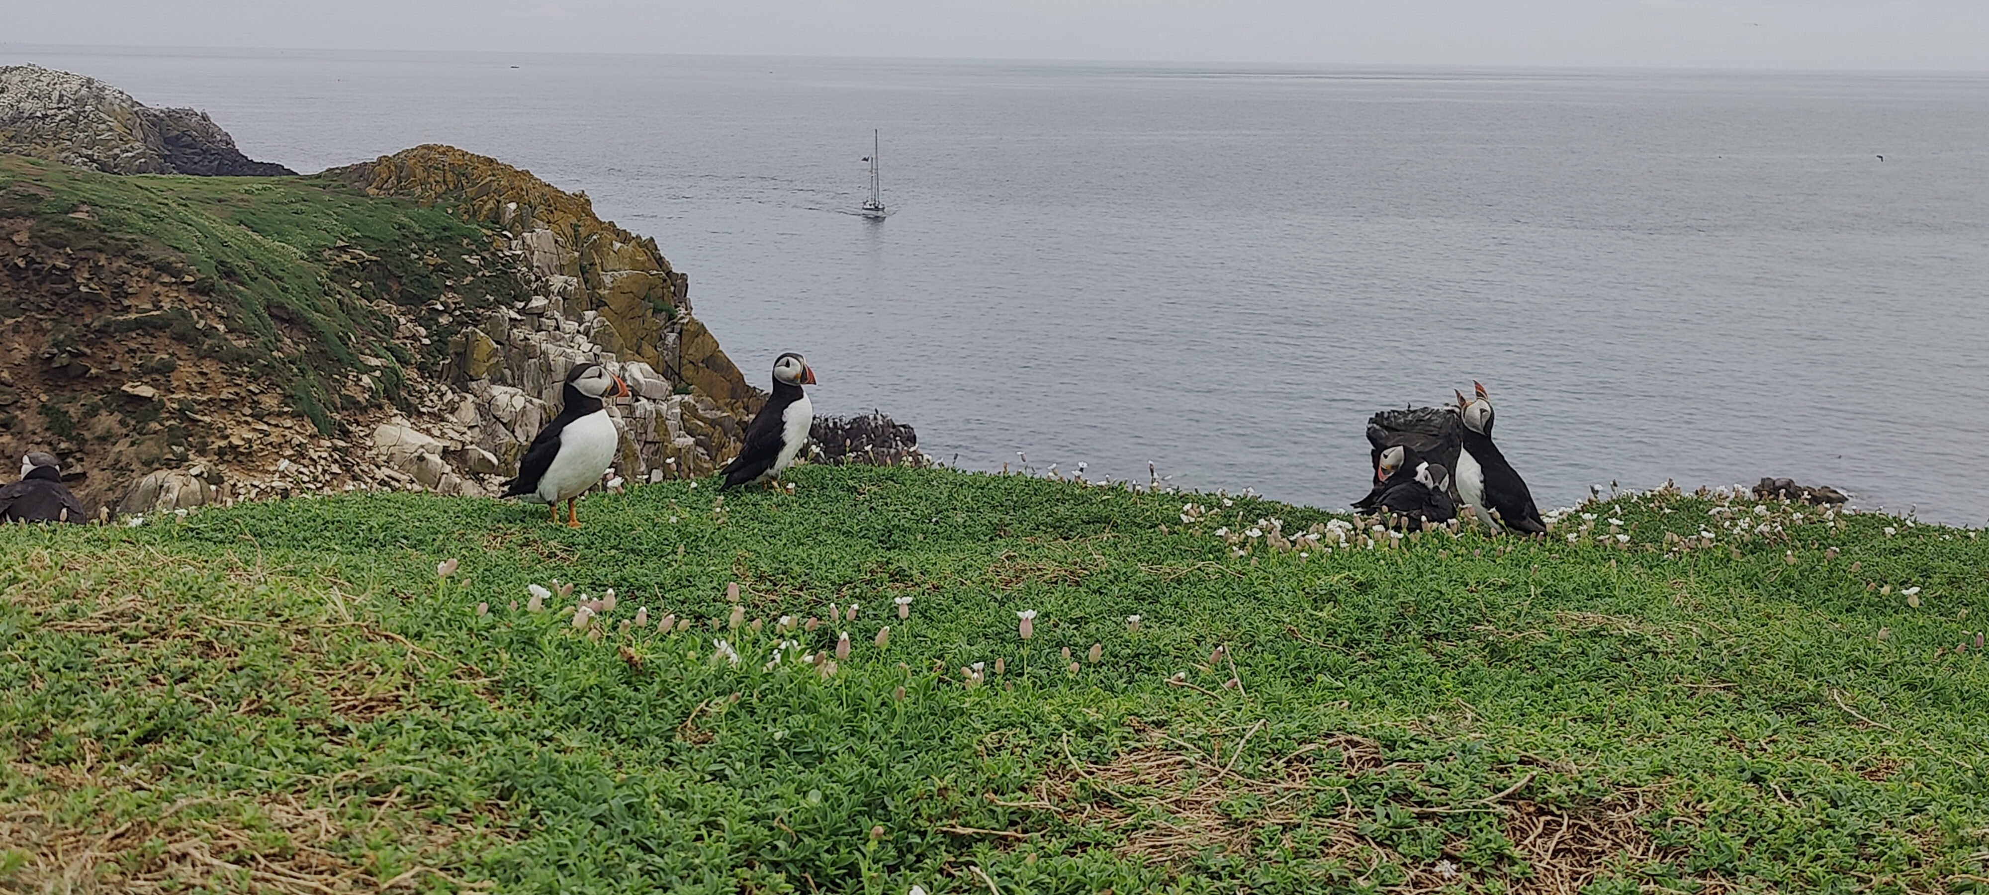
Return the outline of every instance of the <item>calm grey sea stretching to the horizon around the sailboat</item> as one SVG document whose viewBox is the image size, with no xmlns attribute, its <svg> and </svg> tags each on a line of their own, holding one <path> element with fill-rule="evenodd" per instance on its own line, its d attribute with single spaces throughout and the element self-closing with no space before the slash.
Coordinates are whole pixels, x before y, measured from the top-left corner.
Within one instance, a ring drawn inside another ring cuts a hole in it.
<svg viewBox="0 0 1989 895">
<path fill-rule="evenodd" d="M 300 171 L 442 141 L 585 189 L 756 380 L 800 350 L 821 412 L 969 467 L 1345 507 L 1372 410 L 1482 380 L 1543 507 L 1792 475 L 1989 515 L 1989 76 L 0 60 Z"/>
</svg>

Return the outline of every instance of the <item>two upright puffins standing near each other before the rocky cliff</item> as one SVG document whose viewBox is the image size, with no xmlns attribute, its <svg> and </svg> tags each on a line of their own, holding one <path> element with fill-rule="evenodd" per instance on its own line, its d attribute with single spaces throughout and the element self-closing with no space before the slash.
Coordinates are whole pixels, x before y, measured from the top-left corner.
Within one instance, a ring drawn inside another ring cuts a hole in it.
<svg viewBox="0 0 1989 895">
<path fill-rule="evenodd" d="M 808 430 L 815 408 L 802 386 L 815 384 L 815 370 L 800 354 L 788 352 L 774 360 L 774 394 L 746 426 L 746 446 L 722 471 L 722 489 L 768 483 L 780 477 L 808 448 Z M 567 501 L 567 525 L 581 527 L 575 501 L 601 483 L 621 436 L 609 420 L 605 398 L 623 398 L 629 384 L 601 364 L 579 364 L 567 372 L 561 390 L 563 406 L 553 422 L 539 430 L 525 448 L 517 477 L 505 481 L 503 497 L 545 503 L 559 523 L 559 501 Z"/>
</svg>

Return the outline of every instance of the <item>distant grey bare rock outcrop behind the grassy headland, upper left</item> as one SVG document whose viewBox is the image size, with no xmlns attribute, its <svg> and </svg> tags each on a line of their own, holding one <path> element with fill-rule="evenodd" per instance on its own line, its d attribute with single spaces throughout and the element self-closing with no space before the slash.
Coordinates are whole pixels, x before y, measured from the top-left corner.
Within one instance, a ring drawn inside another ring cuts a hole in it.
<svg viewBox="0 0 1989 895">
<path fill-rule="evenodd" d="M 70 72 L 0 66 L 0 151 L 103 173 L 294 175 L 235 149 L 205 111 L 153 109 Z"/>
</svg>

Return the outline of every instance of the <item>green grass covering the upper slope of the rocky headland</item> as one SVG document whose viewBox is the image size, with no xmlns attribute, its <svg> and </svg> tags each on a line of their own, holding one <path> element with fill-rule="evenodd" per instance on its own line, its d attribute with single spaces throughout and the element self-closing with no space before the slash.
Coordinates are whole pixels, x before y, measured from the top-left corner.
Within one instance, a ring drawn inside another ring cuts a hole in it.
<svg viewBox="0 0 1989 895">
<path fill-rule="evenodd" d="M 400 366 L 436 372 L 448 362 L 446 332 L 418 356 L 402 346 L 416 340 L 396 342 L 392 316 L 372 302 L 414 308 L 450 288 L 461 294 L 452 310 L 519 298 L 513 276 L 473 261 L 493 247 L 477 225 L 324 175 L 121 177 L 0 155 L 0 219 L 32 219 L 34 243 L 70 257 L 97 253 L 177 276 L 253 344 L 197 328 L 183 308 L 103 316 L 95 332 L 169 328 L 203 354 L 269 376 L 322 434 L 340 408 L 338 380 L 370 372 L 362 354 L 388 362 L 380 374 L 394 398 Z M 0 318 L 20 312 L 0 296 Z M 56 332 L 52 344 L 76 338 Z"/>
</svg>

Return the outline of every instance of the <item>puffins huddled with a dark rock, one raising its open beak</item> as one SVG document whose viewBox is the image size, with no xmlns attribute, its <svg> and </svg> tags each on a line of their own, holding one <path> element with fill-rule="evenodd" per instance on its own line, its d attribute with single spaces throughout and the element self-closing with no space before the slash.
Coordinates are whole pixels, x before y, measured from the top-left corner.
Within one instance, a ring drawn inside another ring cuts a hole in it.
<svg viewBox="0 0 1989 895">
<path fill-rule="evenodd" d="M 1492 444 L 1492 398 L 1456 392 L 1448 408 L 1384 410 L 1368 420 L 1374 487 L 1355 509 L 1408 525 L 1448 523 L 1462 513 L 1490 531 L 1543 535 L 1547 523 L 1526 479 Z"/>
</svg>

